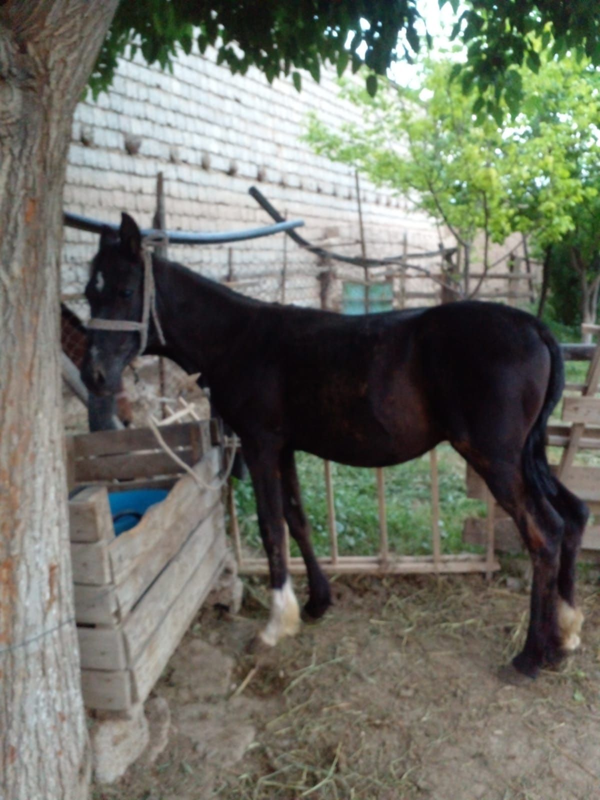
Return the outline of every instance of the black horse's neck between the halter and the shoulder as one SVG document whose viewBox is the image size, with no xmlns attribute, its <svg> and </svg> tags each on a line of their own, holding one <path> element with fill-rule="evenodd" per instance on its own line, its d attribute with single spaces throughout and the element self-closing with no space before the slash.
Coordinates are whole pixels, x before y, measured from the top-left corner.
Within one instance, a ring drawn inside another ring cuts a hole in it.
<svg viewBox="0 0 600 800">
<path fill-rule="evenodd" d="M 250 330 L 257 302 L 162 258 L 154 258 L 154 283 L 166 347 L 152 352 L 210 380 Z"/>
</svg>

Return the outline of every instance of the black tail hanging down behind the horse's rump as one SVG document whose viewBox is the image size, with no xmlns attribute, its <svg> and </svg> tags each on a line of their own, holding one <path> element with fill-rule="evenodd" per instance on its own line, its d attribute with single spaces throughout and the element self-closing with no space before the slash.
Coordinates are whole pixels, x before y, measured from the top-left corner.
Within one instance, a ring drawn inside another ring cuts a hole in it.
<svg viewBox="0 0 600 800">
<path fill-rule="evenodd" d="M 556 494 L 557 486 L 546 457 L 546 425 L 565 388 L 565 366 L 560 346 L 550 330 L 542 323 L 538 323 L 538 334 L 550 353 L 550 376 L 542 410 L 540 410 L 523 447 L 522 466 L 528 486 L 538 496 L 541 494 L 553 497 Z"/>
</svg>

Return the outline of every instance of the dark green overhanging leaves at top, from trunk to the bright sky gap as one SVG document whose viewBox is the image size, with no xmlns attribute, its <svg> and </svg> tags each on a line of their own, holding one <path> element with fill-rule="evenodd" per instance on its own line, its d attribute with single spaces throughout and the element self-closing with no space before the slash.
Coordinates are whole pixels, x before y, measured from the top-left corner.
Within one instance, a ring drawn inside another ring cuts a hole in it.
<svg viewBox="0 0 600 800">
<path fill-rule="evenodd" d="M 298 70 L 307 70 L 318 81 L 326 62 L 340 75 L 349 64 L 354 71 L 366 64 L 374 73 L 385 74 L 398 56 L 411 58 L 418 53 L 417 4 L 417 0 L 122 2 L 90 85 L 94 93 L 106 89 L 118 57 L 138 49 L 146 62 L 170 66 L 179 46 L 189 53 L 194 39 L 202 53 L 215 46 L 218 63 L 226 63 L 233 73 L 244 74 L 249 66 L 258 66 L 271 82 L 291 71 L 298 90 L 302 83 Z M 374 75 L 370 76 L 370 91 L 376 86 Z"/>
</svg>

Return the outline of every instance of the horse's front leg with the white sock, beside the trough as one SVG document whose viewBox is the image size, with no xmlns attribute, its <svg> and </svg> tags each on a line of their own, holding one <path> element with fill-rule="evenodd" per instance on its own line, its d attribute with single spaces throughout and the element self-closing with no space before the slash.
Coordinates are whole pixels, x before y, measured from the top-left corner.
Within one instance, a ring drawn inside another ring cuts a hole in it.
<svg viewBox="0 0 600 800">
<path fill-rule="evenodd" d="M 283 529 L 282 484 L 277 450 L 243 446 L 254 486 L 258 526 L 269 560 L 271 610 L 259 639 L 274 646 L 284 636 L 294 636 L 300 627 L 298 600 L 286 566 Z"/>
</svg>

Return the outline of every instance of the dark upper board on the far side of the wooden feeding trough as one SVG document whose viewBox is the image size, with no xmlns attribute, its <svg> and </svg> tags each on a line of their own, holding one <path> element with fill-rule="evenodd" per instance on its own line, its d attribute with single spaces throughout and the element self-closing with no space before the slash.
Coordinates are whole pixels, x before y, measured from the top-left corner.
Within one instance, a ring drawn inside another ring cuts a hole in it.
<svg viewBox="0 0 600 800">
<path fill-rule="evenodd" d="M 165 426 L 161 435 L 166 443 L 176 449 L 190 446 L 190 430 L 199 428 L 210 430 L 210 420 L 186 422 L 182 425 Z M 73 437 L 76 459 L 90 456 L 128 454 L 136 450 L 160 450 L 150 428 L 126 428 L 126 430 L 98 430 L 92 434 L 78 434 Z"/>
</svg>

